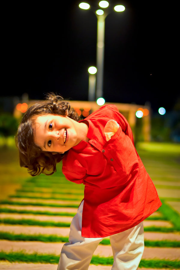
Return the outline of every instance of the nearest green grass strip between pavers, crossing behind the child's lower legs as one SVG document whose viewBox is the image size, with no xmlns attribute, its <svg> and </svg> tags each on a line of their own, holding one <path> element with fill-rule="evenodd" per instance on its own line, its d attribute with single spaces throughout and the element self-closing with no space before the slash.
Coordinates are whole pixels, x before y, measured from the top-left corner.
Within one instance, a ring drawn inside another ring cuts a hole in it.
<svg viewBox="0 0 180 270">
<path fill-rule="evenodd" d="M 0 252 L 0 260 L 7 260 L 9 262 L 33 262 L 33 263 L 50 263 L 58 264 L 59 256 L 54 254 L 38 254 L 38 253 L 23 253 L 23 252 Z M 95 265 L 113 265 L 113 257 L 100 257 L 93 256 L 91 264 Z M 180 261 L 171 260 L 145 260 L 142 259 L 139 265 L 140 268 L 166 268 L 166 269 L 178 269 L 180 267 Z"/>
</svg>

